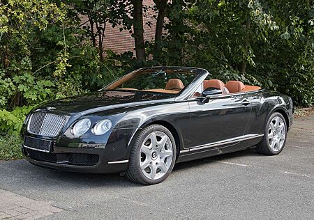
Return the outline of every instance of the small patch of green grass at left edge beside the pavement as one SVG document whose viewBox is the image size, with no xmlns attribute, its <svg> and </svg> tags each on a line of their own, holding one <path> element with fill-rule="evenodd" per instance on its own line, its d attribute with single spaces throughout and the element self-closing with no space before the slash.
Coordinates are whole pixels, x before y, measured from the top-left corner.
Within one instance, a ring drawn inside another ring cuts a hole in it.
<svg viewBox="0 0 314 220">
<path fill-rule="evenodd" d="M 20 136 L 0 136 L 0 160 L 22 159 Z"/>
</svg>

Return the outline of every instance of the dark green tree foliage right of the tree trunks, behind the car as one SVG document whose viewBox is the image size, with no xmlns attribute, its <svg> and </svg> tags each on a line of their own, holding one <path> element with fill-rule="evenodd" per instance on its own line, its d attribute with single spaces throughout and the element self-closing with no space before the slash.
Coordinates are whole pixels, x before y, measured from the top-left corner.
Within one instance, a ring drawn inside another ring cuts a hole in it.
<svg viewBox="0 0 314 220">
<path fill-rule="evenodd" d="M 314 102 L 313 15 L 313 1 L 174 0 L 158 62 L 206 68 L 225 81 L 247 79 L 308 106 Z"/>
</svg>

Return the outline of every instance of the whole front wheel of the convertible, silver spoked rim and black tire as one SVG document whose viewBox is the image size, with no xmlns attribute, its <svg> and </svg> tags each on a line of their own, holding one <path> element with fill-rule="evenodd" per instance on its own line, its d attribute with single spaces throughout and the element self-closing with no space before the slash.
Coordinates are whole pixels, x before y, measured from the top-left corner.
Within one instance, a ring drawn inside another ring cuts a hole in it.
<svg viewBox="0 0 314 220">
<path fill-rule="evenodd" d="M 149 125 L 135 136 L 126 177 L 140 184 L 157 184 L 170 175 L 177 157 L 171 132 L 163 125 Z"/>
</svg>

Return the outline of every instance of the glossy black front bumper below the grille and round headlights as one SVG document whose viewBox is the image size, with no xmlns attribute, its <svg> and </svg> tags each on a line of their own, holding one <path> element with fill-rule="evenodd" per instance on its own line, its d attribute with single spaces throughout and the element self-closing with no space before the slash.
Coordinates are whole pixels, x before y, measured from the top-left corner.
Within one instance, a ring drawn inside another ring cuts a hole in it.
<svg viewBox="0 0 314 220">
<path fill-rule="evenodd" d="M 50 148 L 42 148 L 43 143 L 36 141 L 36 149 L 22 146 L 22 152 L 29 162 L 37 166 L 54 168 L 60 171 L 80 173 L 123 173 L 128 167 L 130 155 L 129 142 L 135 131 L 131 129 L 113 129 L 104 136 L 85 136 L 81 139 L 70 139 L 61 135 L 56 139 L 46 136 L 29 134 L 25 130 L 22 140 L 26 137 L 52 141 Z M 38 147 L 39 145 L 39 147 Z M 28 146 L 33 146 L 29 144 Z M 39 149 L 39 150 L 38 150 Z M 46 150 L 47 152 L 41 152 Z"/>
</svg>

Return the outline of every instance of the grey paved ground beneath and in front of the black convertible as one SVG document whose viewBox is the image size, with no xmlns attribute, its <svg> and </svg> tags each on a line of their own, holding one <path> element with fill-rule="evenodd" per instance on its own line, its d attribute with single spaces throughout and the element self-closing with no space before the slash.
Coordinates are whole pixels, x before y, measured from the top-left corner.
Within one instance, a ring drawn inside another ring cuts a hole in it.
<svg viewBox="0 0 314 220">
<path fill-rule="evenodd" d="M 296 118 L 283 152 L 255 149 L 176 164 L 161 184 L 0 162 L 0 219 L 311 219 L 314 116 Z"/>
</svg>

